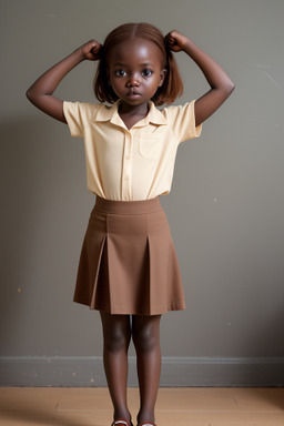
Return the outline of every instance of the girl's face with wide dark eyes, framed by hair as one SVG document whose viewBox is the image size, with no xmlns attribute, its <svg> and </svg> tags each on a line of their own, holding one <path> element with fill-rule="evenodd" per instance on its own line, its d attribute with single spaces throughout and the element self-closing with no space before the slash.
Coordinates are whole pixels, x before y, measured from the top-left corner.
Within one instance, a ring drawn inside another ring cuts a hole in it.
<svg viewBox="0 0 284 426">
<path fill-rule="evenodd" d="M 140 38 L 123 41 L 110 51 L 108 71 L 116 97 L 133 106 L 148 102 L 166 73 L 158 45 Z"/>
</svg>

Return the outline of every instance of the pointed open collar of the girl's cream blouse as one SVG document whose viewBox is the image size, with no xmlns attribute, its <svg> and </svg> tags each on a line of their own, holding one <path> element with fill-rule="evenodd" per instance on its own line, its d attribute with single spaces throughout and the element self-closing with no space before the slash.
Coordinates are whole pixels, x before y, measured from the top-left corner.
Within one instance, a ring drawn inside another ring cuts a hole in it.
<svg viewBox="0 0 284 426">
<path fill-rule="evenodd" d="M 120 101 L 116 101 L 112 106 L 103 105 L 95 116 L 97 121 L 110 121 L 113 124 L 122 125 L 122 120 L 119 115 L 119 104 Z M 153 124 L 168 124 L 163 113 L 158 110 L 152 101 L 149 102 L 149 113 L 148 115 L 139 121 L 133 128 L 144 126 L 149 123 Z"/>
</svg>

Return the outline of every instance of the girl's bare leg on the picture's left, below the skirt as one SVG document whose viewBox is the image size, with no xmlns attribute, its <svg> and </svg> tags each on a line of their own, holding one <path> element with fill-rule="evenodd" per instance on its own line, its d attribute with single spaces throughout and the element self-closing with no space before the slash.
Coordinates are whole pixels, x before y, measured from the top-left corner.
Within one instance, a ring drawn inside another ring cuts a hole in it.
<svg viewBox="0 0 284 426">
<path fill-rule="evenodd" d="M 128 349 L 131 339 L 129 315 L 101 312 L 103 327 L 103 363 L 114 408 L 114 420 L 131 419 L 126 404 Z"/>
</svg>

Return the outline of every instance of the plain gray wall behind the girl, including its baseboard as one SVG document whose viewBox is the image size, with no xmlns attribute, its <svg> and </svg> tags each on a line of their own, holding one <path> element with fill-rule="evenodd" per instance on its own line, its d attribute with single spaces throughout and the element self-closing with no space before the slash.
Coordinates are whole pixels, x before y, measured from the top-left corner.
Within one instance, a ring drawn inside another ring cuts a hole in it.
<svg viewBox="0 0 284 426">
<path fill-rule="evenodd" d="M 72 303 L 94 201 L 83 144 L 24 92 L 63 55 L 126 21 L 184 32 L 236 84 L 201 139 L 181 145 L 172 193 L 162 199 L 187 303 L 162 321 L 162 384 L 282 384 L 284 2 L 0 4 L 1 384 L 104 383 L 99 315 Z M 185 54 L 176 58 L 185 82 L 179 102 L 200 97 L 207 90 L 203 75 Z M 92 101 L 93 72 L 93 63 L 80 64 L 58 95 Z"/>
</svg>

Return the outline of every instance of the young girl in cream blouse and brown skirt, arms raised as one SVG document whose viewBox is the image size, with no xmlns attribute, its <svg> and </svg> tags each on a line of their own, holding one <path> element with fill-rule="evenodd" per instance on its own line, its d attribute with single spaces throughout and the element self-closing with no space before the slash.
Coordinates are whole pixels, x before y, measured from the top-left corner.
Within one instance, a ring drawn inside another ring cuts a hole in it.
<svg viewBox="0 0 284 426">
<path fill-rule="evenodd" d="M 196 101 L 158 110 L 182 93 L 172 52 L 185 52 L 211 89 Z M 53 95 L 80 62 L 99 60 L 94 92 L 103 103 L 63 102 Z M 97 195 L 87 229 L 74 301 L 99 310 L 113 426 L 130 426 L 128 348 L 133 339 L 140 386 L 138 425 L 154 425 L 161 371 L 160 320 L 184 310 L 181 274 L 159 196 L 171 189 L 180 142 L 201 124 L 234 84 L 225 71 L 178 31 L 165 38 L 146 23 L 123 24 L 101 45 L 91 40 L 48 70 L 27 91 L 47 114 L 84 138 L 88 187 Z"/>
</svg>

